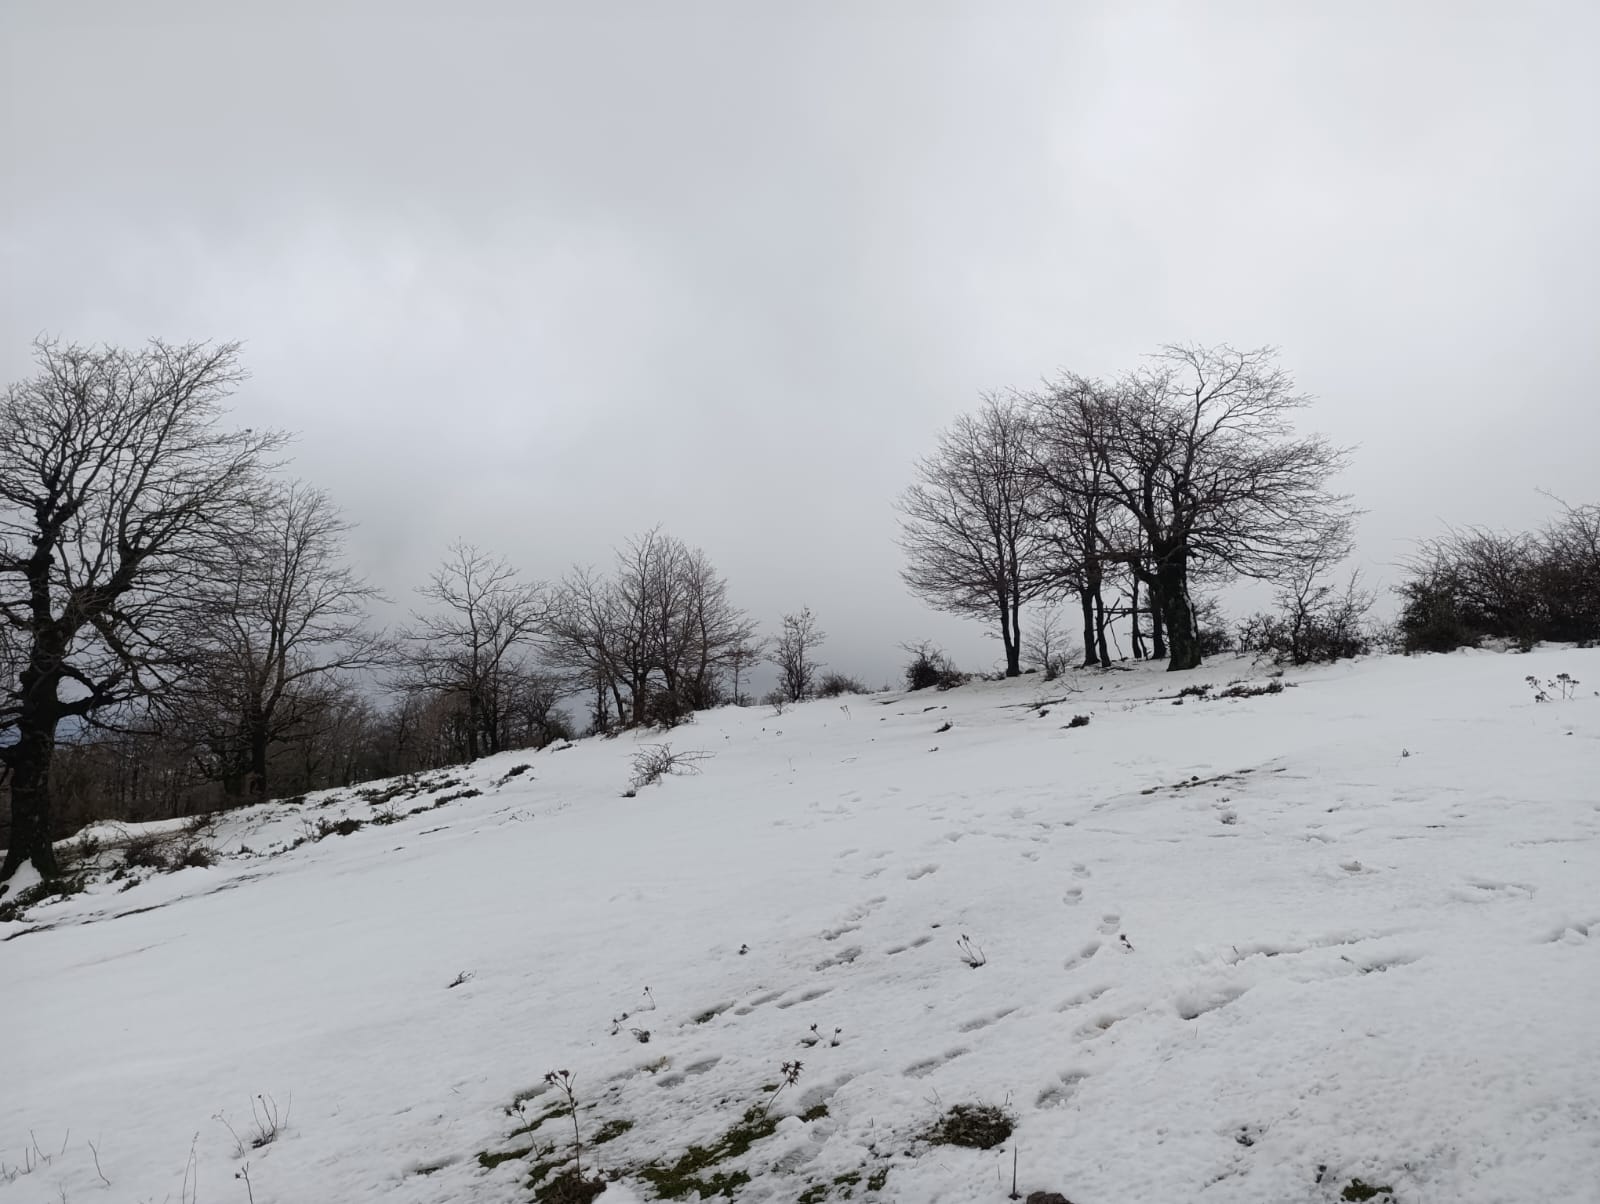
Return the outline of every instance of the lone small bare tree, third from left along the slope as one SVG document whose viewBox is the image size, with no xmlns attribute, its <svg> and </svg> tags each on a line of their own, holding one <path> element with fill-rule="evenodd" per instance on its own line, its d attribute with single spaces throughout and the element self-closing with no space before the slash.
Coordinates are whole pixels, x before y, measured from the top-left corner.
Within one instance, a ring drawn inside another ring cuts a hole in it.
<svg viewBox="0 0 1600 1204">
<path fill-rule="evenodd" d="M 418 592 L 435 604 L 402 632 L 405 684 L 464 704 L 467 756 L 499 752 L 509 685 L 547 618 L 544 588 L 517 580 L 506 560 L 472 544 L 453 544 Z"/>
</svg>

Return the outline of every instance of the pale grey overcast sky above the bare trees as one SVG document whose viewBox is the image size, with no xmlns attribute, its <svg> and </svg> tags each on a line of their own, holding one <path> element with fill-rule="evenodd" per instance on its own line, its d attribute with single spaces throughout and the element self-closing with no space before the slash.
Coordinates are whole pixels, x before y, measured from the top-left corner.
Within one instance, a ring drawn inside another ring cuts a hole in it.
<svg viewBox="0 0 1600 1204">
<path fill-rule="evenodd" d="M 242 339 L 398 602 L 662 524 L 872 682 L 982 389 L 1275 344 L 1384 584 L 1600 501 L 1600 6 L 0 5 L 0 379 Z"/>
</svg>

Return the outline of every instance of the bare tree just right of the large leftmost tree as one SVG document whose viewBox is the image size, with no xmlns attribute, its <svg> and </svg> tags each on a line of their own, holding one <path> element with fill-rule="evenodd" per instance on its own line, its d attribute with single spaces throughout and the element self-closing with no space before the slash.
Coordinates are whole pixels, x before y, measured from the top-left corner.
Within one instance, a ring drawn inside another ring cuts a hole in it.
<svg viewBox="0 0 1600 1204">
<path fill-rule="evenodd" d="M 366 623 L 378 591 L 344 562 L 349 524 L 322 490 L 275 488 L 197 642 L 200 671 L 178 696 L 222 756 L 229 793 L 266 797 L 269 752 L 326 712 L 323 687 L 382 664 L 389 645 Z"/>
</svg>

